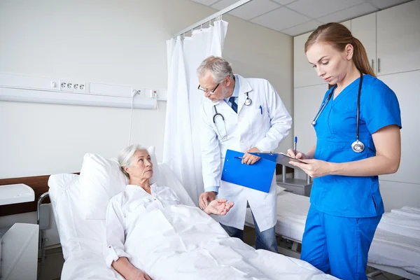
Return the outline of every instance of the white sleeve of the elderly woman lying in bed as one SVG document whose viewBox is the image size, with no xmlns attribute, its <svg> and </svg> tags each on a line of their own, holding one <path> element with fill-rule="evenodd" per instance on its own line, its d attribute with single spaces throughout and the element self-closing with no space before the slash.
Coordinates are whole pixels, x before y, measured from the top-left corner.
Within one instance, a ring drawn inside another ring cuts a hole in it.
<svg viewBox="0 0 420 280">
<path fill-rule="evenodd" d="M 120 257 L 130 258 L 130 255 L 124 251 L 125 230 L 124 214 L 121 200 L 113 197 L 106 209 L 106 252 L 105 262 L 111 267 L 114 260 Z M 119 195 L 118 198 L 122 199 Z"/>
</svg>

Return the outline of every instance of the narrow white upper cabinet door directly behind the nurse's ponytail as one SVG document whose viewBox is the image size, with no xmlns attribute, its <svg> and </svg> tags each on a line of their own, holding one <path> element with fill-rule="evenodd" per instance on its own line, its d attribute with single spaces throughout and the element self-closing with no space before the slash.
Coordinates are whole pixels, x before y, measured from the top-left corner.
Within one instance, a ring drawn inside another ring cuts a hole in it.
<svg viewBox="0 0 420 280">
<path fill-rule="evenodd" d="M 351 33 L 363 43 L 367 52 L 370 66 L 374 73 L 377 73 L 377 38 L 376 38 L 376 13 L 363 15 L 363 17 L 351 20 Z"/>
</svg>

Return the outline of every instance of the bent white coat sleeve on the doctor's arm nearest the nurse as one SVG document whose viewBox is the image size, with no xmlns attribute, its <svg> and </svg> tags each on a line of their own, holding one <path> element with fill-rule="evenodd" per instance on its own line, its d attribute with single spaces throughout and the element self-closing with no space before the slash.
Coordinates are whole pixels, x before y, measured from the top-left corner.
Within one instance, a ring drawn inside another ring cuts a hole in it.
<svg viewBox="0 0 420 280">
<path fill-rule="evenodd" d="M 279 147 L 280 142 L 288 136 L 292 127 L 292 117 L 290 117 L 279 94 L 277 94 L 270 83 L 267 85 L 265 94 L 271 127 L 265 134 L 265 137 L 258 141 L 255 147 L 262 152 L 273 152 Z"/>
</svg>

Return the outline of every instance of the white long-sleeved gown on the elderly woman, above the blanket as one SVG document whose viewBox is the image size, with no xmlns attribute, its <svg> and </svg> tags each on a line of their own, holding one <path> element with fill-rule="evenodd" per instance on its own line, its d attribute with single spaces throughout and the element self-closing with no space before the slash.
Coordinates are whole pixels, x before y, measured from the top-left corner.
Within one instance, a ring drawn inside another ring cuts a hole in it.
<svg viewBox="0 0 420 280">
<path fill-rule="evenodd" d="M 180 202 L 174 190 L 155 183 L 151 186 L 151 195 L 139 186 L 127 185 L 123 193 L 112 197 L 106 209 L 106 265 L 111 267 L 113 260 L 120 257 L 130 260 L 125 250 L 125 237 L 130 235 L 139 219 L 154 209 L 175 204 Z"/>
</svg>

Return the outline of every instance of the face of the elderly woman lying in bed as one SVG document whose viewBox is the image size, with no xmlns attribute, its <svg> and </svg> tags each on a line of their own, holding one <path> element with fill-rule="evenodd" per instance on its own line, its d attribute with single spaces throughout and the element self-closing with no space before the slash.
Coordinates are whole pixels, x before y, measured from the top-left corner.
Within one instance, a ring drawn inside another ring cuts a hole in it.
<svg viewBox="0 0 420 280">
<path fill-rule="evenodd" d="M 151 156 L 146 150 L 137 150 L 132 157 L 130 167 L 127 168 L 130 179 L 151 179 L 153 176 L 153 164 Z"/>
</svg>

